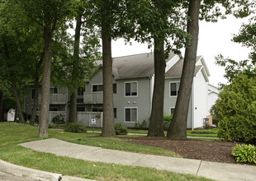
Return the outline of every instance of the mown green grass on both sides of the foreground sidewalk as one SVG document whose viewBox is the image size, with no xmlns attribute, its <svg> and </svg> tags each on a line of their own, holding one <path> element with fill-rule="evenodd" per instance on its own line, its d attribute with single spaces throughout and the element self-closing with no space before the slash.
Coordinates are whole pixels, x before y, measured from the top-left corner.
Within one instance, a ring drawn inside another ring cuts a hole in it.
<svg viewBox="0 0 256 181">
<path fill-rule="evenodd" d="M 50 130 L 50 137 L 68 142 L 77 142 L 111 149 L 124 149 L 135 152 L 171 155 L 171 151 L 163 152 L 149 146 L 135 146 L 130 143 L 118 142 L 118 138 L 92 137 L 96 133 L 72 133 Z M 77 160 L 50 153 L 32 151 L 17 144 L 40 140 L 38 128 L 20 123 L 0 123 L 0 159 L 13 164 L 23 165 L 33 169 L 55 172 L 64 175 L 78 176 L 97 180 L 210 180 L 190 174 L 175 174 L 172 172 L 143 168 L 103 164 L 85 160 Z M 119 148 L 118 148 L 119 147 Z"/>
</svg>

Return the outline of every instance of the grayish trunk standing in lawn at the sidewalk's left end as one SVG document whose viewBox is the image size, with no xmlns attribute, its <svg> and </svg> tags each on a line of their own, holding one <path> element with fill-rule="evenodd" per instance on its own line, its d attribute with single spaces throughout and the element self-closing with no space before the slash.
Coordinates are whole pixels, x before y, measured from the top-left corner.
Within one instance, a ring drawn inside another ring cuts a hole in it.
<svg viewBox="0 0 256 181">
<path fill-rule="evenodd" d="M 52 33 L 50 27 L 44 27 L 45 39 L 45 62 L 43 69 L 42 81 L 42 100 L 40 107 L 40 120 L 39 120 L 39 137 L 48 137 L 48 118 L 49 118 L 49 103 L 50 103 L 50 71 L 51 71 L 51 50 L 52 50 Z"/>
</svg>

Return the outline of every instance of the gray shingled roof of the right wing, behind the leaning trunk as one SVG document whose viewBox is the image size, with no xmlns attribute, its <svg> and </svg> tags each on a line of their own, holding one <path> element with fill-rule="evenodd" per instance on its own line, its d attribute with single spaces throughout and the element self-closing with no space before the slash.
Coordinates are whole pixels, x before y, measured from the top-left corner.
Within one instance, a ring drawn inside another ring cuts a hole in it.
<svg viewBox="0 0 256 181">
<path fill-rule="evenodd" d="M 201 58 L 201 56 L 197 56 L 197 61 Z M 183 72 L 183 63 L 184 58 L 181 58 L 173 67 L 171 67 L 168 72 L 165 73 L 165 77 L 182 77 Z M 197 75 L 197 72 L 201 69 L 202 65 L 196 66 L 194 76 Z"/>
</svg>

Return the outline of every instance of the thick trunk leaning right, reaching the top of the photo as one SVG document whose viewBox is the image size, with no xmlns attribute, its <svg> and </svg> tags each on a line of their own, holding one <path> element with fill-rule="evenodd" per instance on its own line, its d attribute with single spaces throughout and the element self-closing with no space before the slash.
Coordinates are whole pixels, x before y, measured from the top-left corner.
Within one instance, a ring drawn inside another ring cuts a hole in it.
<svg viewBox="0 0 256 181">
<path fill-rule="evenodd" d="M 167 137 L 171 139 L 187 139 L 187 112 L 192 92 L 192 81 L 197 60 L 197 42 L 199 34 L 199 9 L 201 0 L 190 0 L 188 6 L 187 33 L 192 35 L 191 43 L 185 50 L 183 73 L 178 91 L 178 99 L 173 120 L 168 128 Z M 193 109 L 193 108 L 192 108 Z"/>
</svg>

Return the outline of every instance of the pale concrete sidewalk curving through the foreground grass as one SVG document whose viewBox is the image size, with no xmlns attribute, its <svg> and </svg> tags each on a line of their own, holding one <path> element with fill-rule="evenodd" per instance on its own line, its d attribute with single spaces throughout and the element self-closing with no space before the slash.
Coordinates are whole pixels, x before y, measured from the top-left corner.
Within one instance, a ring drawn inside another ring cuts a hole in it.
<svg viewBox="0 0 256 181">
<path fill-rule="evenodd" d="M 250 165 L 233 165 L 170 156 L 114 151 L 96 146 L 64 142 L 55 138 L 26 142 L 20 145 L 36 151 L 69 156 L 76 159 L 164 169 L 181 174 L 194 174 L 209 179 L 256 180 L 256 166 Z"/>
</svg>

